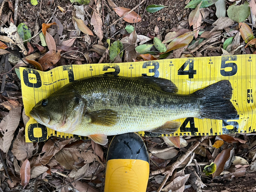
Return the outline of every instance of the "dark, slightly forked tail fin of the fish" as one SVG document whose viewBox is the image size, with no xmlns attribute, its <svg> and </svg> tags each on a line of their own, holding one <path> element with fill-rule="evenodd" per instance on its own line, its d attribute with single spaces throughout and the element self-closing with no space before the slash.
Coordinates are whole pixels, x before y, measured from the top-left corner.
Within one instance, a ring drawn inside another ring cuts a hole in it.
<svg viewBox="0 0 256 192">
<path fill-rule="evenodd" d="M 194 93 L 201 99 L 199 118 L 232 119 L 238 115 L 230 99 L 232 86 L 228 80 L 222 80 Z"/>
</svg>

